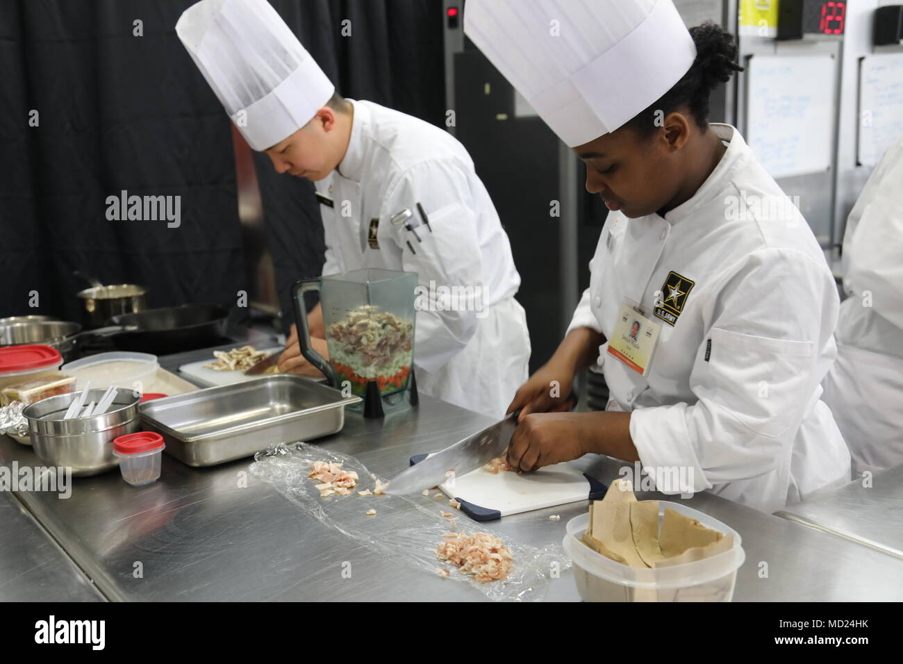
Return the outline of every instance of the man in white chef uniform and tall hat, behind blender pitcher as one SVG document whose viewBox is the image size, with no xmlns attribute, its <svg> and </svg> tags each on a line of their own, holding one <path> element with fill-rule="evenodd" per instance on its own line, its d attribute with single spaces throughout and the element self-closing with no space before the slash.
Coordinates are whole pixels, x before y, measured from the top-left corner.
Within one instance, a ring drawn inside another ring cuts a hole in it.
<svg viewBox="0 0 903 664">
<path fill-rule="evenodd" d="M 323 276 L 417 273 L 418 388 L 504 415 L 527 377 L 530 342 L 507 235 L 464 147 L 415 117 L 341 98 L 265 0 L 202 0 L 176 33 L 247 143 L 279 173 L 316 182 Z M 319 306 L 308 323 L 326 356 Z M 279 369 L 315 374 L 296 334 Z"/>
</svg>

